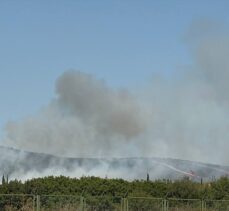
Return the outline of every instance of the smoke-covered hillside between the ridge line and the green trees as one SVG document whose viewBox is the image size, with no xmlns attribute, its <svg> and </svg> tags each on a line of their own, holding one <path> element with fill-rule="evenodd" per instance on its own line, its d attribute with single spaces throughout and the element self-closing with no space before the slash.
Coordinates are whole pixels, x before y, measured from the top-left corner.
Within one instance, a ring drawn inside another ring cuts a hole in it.
<svg viewBox="0 0 229 211">
<path fill-rule="evenodd" d="M 151 180 L 189 176 L 200 182 L 228 175 L 229 167 L 168 158 L 63 158 L 0 147 L 0 172 L 22 181 L 48 175 L 135 180 L 148 173 Z"/>
</svg>

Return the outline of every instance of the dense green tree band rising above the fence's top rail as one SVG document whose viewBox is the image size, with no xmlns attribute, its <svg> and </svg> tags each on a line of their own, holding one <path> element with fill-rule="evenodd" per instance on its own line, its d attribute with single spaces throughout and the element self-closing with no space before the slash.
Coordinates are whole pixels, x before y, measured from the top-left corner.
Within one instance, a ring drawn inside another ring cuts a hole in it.
<svg viewBox="0 0 229 211">
<path fill-rule="evenodd" d="M 171 181 L 108 179 L 99 177 L 70 178 L 48 176 L 22 182 L 4 177 L 0 194 L 78 195 L 109 197 L 157 197 L 182 199 L 229 199 L 229 178 L 198 183 L 188 178 Z"/>
</svg>

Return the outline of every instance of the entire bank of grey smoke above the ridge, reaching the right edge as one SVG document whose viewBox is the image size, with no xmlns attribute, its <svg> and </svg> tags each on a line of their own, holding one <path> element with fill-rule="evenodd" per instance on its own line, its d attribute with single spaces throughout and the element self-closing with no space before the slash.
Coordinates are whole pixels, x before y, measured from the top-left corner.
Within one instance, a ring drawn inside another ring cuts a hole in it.
<svg viewBox="0 0 229 211">
<path fill-rule="evenodd" d="M 83 72 L 63 73 L 49 105 L 7 124 L 4 144 L 61 156 L 161 156 L 228 165 L 229 36 L 201 22 L 187 39 L 193 64 L 172 77 L 153 77 L 138 94 Z"/>
</svg>

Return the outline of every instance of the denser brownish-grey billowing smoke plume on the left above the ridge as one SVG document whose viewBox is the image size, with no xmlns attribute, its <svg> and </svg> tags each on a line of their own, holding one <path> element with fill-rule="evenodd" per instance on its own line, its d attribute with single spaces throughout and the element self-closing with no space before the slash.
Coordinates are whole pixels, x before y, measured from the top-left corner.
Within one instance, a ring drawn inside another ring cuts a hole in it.
<svg viewBox="0 0 229 211">
<path fill-rule="evenodd" d="M 118 156 L 129 154 L 145 129 L 136 100 L 91 75 L 65 72 L 56 95 L 38 115 L 9 123 L 6 143 L 62 156 Z"/>
</svg>

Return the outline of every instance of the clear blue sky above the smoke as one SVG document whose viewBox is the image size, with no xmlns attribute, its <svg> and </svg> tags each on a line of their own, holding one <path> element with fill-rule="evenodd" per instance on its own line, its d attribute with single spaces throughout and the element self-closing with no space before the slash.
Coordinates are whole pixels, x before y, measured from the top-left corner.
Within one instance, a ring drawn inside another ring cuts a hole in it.
<svg viewBox="0 0 229 211">
<path fill-rule="evenodd" d="M 70 68 L 114 87 L 172 74 L 191 63 L 192 21 L 228 23 L 228 9 L 227 0 L 1 0 L 0 128 L 47 104 Z"/>
</svg>

